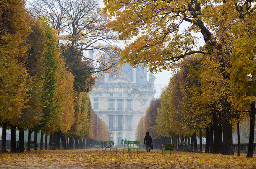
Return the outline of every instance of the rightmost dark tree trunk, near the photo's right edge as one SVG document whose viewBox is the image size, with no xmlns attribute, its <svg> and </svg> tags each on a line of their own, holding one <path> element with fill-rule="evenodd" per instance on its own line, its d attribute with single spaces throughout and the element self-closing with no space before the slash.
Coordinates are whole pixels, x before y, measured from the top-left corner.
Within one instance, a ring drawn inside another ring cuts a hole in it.
<svg viewBox="0 0 256 169">
<path fill-rule="evenodd" d="M 250 116 L 250 134 L 249 134 L 249 145 L 246 157 L 253 157 L 253 142 L 254 142 L 254 126 L 255 126 L 255 101 L 250 104 L 251 111 L 249 113 Z"/>
</svg>

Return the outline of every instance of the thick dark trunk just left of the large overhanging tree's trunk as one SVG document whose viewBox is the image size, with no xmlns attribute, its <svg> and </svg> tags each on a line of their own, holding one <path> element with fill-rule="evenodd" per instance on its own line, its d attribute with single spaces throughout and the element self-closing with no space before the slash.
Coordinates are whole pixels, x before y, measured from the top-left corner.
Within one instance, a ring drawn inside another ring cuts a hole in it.
<svg viewBox="0 0 256 169">
<path fill-rule="evenodd" d="M 222 124 L 221 114 L 218 111 L 214 111 L 214 153 L 222 153 Z"/>
</svg>

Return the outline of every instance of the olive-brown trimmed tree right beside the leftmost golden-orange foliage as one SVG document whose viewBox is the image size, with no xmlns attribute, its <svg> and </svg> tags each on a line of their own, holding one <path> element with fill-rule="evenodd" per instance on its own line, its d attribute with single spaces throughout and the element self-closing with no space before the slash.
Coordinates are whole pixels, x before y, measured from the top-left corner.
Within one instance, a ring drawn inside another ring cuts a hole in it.
<svg viewBox="0 0 256 169">
<path fill-rule="evenodd" d="M 42 96 L 45 83 L 47 37 L 45 21 L 38 18 L 29 18 L 32 28 L 28 38 L 28 51 L 26 53 L 25 68 L 29 75 L 26 89 L 26 108 L 22 110 L 21 118 L 17 119 L 19 133 L 19 146 L 24 149 L 24 130 L 31 130 L 39 126 L 42 120 Z M 30 139 L 30 138 L 29 138 Z"/>
</svg>

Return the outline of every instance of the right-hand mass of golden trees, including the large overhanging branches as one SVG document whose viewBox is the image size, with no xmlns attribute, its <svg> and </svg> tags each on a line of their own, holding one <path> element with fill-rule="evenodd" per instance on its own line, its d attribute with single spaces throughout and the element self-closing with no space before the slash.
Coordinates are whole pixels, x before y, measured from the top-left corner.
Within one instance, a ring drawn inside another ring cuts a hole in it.
<svg viewBox="0 0 256 169">
<path fill-rule="evenodd" d="M 166 114 L 167 121 L 162 129 L 171 125 L 169 136 L 190 133 L 193 138 L 207 131 L 207 151 L 213 145 L 210 151 L 232 155 L 234 120 L 244 121 L 249 115 L 247 157 L 252 157 L 256 113 L 252 1 L 104 2 L 115 18 L 108 26 L 120 33 L 120 39 L 132 40 L 122 51 L 123 62 L 143 64 L 152 72 L 175 69 L 180 63 L 161 97 L 159 113 Z"/>
</svg>

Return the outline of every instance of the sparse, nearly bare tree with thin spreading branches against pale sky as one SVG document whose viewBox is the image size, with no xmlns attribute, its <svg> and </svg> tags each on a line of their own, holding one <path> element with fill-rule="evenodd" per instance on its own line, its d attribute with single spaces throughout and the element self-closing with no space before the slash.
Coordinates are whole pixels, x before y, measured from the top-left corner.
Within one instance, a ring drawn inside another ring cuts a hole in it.
<svg viewBox="0 0 256 169">
<path fill-rule="evenodd" d="M 61 36 L 62 52 L 75 78 L 110 71 L 117 65 L 118 55 L 108 55 L 106 60 L 105 54 L 117 54 L 118 48 L 113 45 L 115 35 L 106 27 L 109 17 L 97 0 L 38 0 L 30 5 L 31 13 L 46 17 Z M 89 56 L 88 51 L 97 57 Z"/>
</svg>

